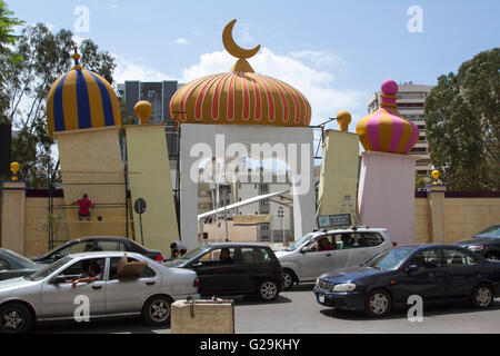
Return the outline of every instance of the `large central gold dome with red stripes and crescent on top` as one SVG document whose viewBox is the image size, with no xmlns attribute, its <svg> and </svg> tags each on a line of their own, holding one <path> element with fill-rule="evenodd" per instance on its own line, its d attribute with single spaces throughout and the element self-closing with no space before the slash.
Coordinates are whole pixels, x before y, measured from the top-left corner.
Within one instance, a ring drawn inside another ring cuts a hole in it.
<svg viewBox="0 0 500 356">
<path fill-rule="evenodd" d="M 257 75 L 246 60 L 251 50 L 238 47 L 228 23 L 222 40 L 239 58 L 230 72 L 207 76 L 180 88 L 170 100 L 170 116 L 180 123 L 309 126 L 311 106 L 293 87 L 278 79 Z"/>
</svg>

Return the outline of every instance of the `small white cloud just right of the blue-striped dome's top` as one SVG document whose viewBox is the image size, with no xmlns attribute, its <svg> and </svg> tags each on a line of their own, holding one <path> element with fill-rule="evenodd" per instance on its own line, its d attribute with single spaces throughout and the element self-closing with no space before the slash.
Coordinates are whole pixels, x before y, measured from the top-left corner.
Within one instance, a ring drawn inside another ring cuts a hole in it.
<svg viewBox="0 0 500 356">
<path fill-rule="evenodd" d="M 113 80 L 116 82 L 124 82 L 126 80 L 141 80 L 141 81 L 162 81 L 171 80 L 170 76 L 154 69 L 149 69 L 151 66 L 142 58 L 123 58 L 113 55 L 117 68 L 113 72 Z"/>
</svg>

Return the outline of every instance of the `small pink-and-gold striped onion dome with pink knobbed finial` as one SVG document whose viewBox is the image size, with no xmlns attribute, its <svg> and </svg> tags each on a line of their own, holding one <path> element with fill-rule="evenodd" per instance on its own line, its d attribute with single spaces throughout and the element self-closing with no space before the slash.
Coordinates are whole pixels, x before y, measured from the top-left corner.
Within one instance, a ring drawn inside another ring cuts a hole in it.
<svg viewBox="0 0 500 356">
<path fill-rule="evenodd" d="M 419 129 L 398 112 L 396 81 L 386 80 L 381 89 L 380 109 L 359 120 L 356 132 L 367 151 L 408 155 L 419 139 Z"/>
</svg>

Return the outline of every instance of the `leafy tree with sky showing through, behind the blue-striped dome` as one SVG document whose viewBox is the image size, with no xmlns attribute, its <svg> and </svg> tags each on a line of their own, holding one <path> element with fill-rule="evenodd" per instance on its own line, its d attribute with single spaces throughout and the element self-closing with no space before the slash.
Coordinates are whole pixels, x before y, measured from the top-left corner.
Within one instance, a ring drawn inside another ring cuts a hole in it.
<svg viewBox="0 0 500 356">
<path fill-rule="evenodd" d="M 21 165 L 20 178 L 31 188 L 47 186 L 47 170 L 56 168 L 53 138 L 48 135 L 46 105 L 53 82 L 73 66 L 74 47 L 69 30 L 52 33 L 44 24 L 26 27 L 14 53 L 23 60 L 8 67 L 8 120 L 13 125 L 12 160 Z M 113 58 L 91 40 L 81 43 L 81 63 L 112 83 Z"/>
</svg>

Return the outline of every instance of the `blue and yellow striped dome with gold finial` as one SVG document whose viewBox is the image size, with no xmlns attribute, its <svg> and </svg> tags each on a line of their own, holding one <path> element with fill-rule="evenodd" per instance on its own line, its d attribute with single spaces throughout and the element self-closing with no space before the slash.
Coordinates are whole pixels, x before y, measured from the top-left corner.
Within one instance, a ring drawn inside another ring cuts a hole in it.
<svg viewBox="0 0 500 356">
<path fill-rule="evenodd" d="M 118 97 L 101 76 L 76 66 L 53 83 L 47 97 L 49 135 L 53 132 L 121 125 Z"/>
</svg>

